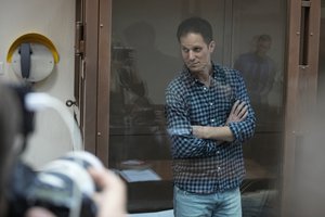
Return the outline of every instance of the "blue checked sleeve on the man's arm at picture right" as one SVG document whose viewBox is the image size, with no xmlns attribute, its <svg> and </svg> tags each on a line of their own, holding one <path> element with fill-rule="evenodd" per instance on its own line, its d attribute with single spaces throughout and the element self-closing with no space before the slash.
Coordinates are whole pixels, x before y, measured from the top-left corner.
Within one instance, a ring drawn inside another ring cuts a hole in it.
<svg viewBox="0 0 325 217">
<path fill-rule="evenodd" d="M 236 75 L 237 75 L 236 85 L 235 85 L 236 100 L 239 100 L 240 102 L 246 102 L 246 104 L 248 105 L 248 115 L 243 122 L 230 123 L 229 127 L 234 135 L 235 138 L 234 142 L 244 142 L 253 136 L 255 127 L 256 127 L 256 117 L 255 117 L 255 112 L 250 105 L 250 101 L 249 101 L 249 97 L 248 97 L 248 92 L 244 79 L 238 72 L 236 73 Z"/>
</svg>

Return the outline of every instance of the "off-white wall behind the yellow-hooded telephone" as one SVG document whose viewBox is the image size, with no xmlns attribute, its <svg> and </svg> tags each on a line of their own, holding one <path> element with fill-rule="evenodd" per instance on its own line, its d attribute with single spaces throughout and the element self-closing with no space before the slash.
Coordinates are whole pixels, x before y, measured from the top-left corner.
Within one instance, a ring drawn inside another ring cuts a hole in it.
<svg viewBox="0 0 325 217">
<path fill-rule="evenodd" d="M 38 33 L 54 43 L 60 62 L 46 80 L 34 86 L 34 90 L 47 92 L 64 103 L 73 99 L 74 21 L 75 0 L 0 0 L 0 62 L 4 64 L 0 79 L 17 80 L 5 62 L 8 50 L 20 36 Z M 70 136 L 61 116 L 52 110 L 38 113 L 26 161 L 38 167 L 69 150 Z"/>
</svg>

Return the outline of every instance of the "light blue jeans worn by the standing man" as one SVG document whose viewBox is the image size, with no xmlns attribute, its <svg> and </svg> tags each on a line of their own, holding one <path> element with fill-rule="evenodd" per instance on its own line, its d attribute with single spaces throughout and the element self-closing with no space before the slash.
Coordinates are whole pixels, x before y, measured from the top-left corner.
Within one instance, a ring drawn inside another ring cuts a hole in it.
<svg viewBox="0 0 325 217">
<path fill-rule="evenodd" d="M 195 194 L 173 188 L 176 217 L 242 217 L 239 188 L 212 194 Z"/>
</svg>

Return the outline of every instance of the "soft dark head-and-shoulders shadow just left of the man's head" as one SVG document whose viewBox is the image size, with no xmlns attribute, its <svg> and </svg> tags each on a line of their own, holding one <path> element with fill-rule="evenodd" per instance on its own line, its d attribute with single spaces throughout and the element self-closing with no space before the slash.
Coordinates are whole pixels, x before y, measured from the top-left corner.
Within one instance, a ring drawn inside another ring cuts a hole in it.
<svg viewBox="0 0 325 217">
<path fill-rule="evenodd" d="M 144 80 L 146 94 L 155 104 L 164 104 L 165 88 L 173 78 L 181 60 L 160 51 L 152 24 L 138 21 L 123 30 L 126 42 L 134 48 L 134 61 L 139 75 Z"/>
</svg>

